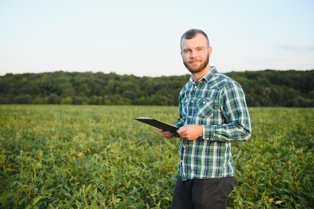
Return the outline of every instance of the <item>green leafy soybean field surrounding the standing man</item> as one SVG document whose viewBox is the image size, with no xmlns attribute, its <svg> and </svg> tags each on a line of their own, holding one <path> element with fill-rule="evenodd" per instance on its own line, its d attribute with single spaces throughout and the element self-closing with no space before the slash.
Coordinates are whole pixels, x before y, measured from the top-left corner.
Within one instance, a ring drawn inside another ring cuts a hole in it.
<svg viewBox="0 0 314 209">
<path fill-rule="evenodd" d="M 314 208 L 314 108 L 251 107 L 228 208 Z M 0 208 L 170 208 L 175 106 L 1 105 Z"/>
</svg>

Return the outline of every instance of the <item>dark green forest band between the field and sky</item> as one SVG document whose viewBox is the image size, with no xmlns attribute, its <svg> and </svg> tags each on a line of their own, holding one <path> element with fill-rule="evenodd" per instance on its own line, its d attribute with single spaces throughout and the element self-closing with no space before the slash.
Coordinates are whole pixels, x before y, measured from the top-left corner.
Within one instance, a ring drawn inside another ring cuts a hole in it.
<svg viewBox="0 0 314 209">
<path fill-rule="evenodd" d="M 248 106 L 314 107 L 314 70 L 225 73 L 243 88 Z M 183 76 L 136 77 L 63 72 L 0 76 L 0 104 L 177 106 L 189 80 Z"/>
</svg>

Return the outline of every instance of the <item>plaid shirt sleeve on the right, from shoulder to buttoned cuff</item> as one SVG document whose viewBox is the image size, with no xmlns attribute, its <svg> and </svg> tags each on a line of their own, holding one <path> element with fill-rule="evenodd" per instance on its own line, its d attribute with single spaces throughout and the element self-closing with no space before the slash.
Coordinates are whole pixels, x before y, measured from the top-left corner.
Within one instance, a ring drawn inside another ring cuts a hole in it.
<svg viewBox="0 0 314 209">
<path fill-rule="evenodd" d="M 247 141 L 251 136 L 251 121 L 245 95 L 237 82 L 228 82 L 219 97 L 224 123 L 202 125 L 203 138 L 210 141 Z"/>
</svg>

